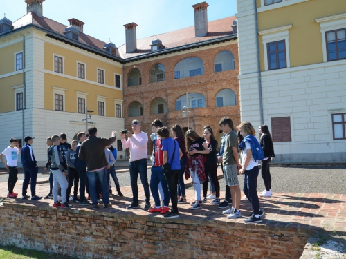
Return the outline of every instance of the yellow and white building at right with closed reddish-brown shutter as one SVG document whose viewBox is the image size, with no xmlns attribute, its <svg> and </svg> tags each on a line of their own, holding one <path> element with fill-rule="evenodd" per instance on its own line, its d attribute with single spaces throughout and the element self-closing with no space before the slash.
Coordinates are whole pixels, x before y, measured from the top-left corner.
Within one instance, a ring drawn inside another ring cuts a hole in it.
<svg viewBox="0 0 346 259">
<path fill-rule="evenodd" d="M 345 162 L 344 0 L 237 0 L 242 120 L 271 129 L 275 161 Z"/>
</svg>

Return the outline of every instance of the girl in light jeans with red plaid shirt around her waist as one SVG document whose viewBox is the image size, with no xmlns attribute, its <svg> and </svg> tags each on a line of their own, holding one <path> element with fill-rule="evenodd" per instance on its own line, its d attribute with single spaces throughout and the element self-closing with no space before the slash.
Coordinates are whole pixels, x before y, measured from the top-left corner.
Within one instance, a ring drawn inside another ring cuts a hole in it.
<svg viewBox="0 0 346 259">
<path fill-rule="evenodd" d="M 186 150 L 188 150 L 188 163 L 185 168 L 185 178 L 188 179 L 191 175 L 192 184 L 194 186 L 195 201 L 190 203 L 191 209 L 201 209 L 201 184 L 206 181 L 204 173 L 203 154 L 208 154 L 209 149 L 206 142 L 196 131 L 189 129 L 186 131 Z"/>
</svg>

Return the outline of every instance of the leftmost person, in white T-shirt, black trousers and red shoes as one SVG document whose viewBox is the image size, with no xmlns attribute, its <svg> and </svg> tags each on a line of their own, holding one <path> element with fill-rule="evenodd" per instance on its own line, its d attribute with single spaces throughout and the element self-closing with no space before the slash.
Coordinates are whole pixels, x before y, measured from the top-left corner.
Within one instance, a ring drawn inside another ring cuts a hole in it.
<svg viewBox="0 0 346 259">
<path fill-rule="evenodd" d="M 10 146 L 5 148 L 4 151 L 0 154 L 0 160 L 3 162 L 3 164 L 6 166 L 6 169 L 8 169 L 8 195 L 7 198 L 17 198 L 18 193 L 14 193 L 13 189 L 15 188 L 15 184 L 18 180 L 18 169 L 17 169 L 17 162 L 18 162 L 18 154 L 20 154 L 21 151 L 19 150 L 19 144 L 18 140 L 16 140 L 14 137 L 10 139 Z M 3 156 L 6 157 L 7 163 L 3 161 Z"/>
</svg>

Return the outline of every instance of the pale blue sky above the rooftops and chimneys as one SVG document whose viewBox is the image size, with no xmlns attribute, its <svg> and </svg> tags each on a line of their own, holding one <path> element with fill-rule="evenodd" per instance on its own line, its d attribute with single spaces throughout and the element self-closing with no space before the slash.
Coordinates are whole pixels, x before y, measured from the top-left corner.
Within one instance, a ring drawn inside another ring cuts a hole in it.
<svg viewBox="0 0 346 259">
<path fill-rule="evenodd" d="M 206 0 L 208 21 L 235 15 L 235 0 Z M 143 4 L 145 3 L 145 5 Z M 125 44 L 124 24 L 134 22 L 137 39 L 194 25 L 192 5 L 201 0 L 46 0 L 43 15 L 69 26 L 68 19 L 83 21 L 84 33 L 117 47 Z M 3 14 L 12 22 L 26 15 L 24 0 L 0 0 Z"/>
</svg>

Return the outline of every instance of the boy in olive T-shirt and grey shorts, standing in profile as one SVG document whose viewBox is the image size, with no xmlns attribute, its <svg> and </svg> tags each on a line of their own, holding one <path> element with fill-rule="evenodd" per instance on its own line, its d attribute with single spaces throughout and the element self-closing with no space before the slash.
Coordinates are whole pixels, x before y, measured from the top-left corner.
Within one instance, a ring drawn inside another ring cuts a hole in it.
<svg viewBox="0 0 346 259">
<path fill-rule="evenodd" d="M 230 187 L 232 197 L 232 207 L 223 211 L 224 214 L 230 214 L 227 218 L 241 218 L 242 213 L 239 211 L 240 206 L 240 187 L 238 180 L 238 170 L 242 168 L 239 164 L 238 157 L 238 137 L 233 131 L 233 122 L 229 117 L 223 117 L 219 126 L 221 131 L 226 134 L 224 154 L 222 155 L 222 163 L 224 164 L 225 182 Z"/>
</svg>

